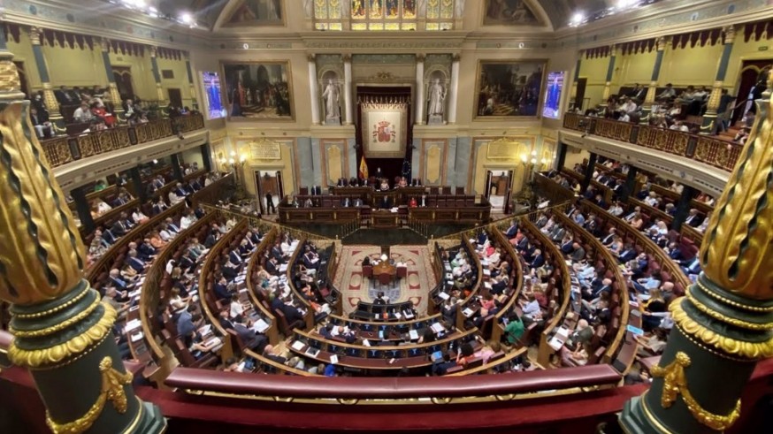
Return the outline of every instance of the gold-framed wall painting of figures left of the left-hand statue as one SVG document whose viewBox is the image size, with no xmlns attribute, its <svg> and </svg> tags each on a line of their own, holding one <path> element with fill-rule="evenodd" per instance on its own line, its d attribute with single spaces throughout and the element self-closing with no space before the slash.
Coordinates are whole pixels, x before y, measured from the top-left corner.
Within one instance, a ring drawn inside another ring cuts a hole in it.
<svg viewBox="0 0 773 434">
<path fill-rule="evenodd" d="M 229 120 L 294 120 L 290 63 L 224 64 Z"/>
</svg>

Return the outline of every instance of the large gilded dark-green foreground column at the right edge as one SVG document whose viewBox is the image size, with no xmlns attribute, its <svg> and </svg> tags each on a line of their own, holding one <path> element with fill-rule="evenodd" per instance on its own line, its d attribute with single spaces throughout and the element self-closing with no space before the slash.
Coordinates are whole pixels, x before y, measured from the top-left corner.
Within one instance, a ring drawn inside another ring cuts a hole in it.
<svg viewBox="0 0 773 434">
<path fill-rule="evenodd" d="M 768 88 L 773 86 L 769 75 Z M 703 272 L 670 305 L 674 327 L 654 381 L 626 403 L 626 432 L 713 433 L 739 418 L 756 362 L 773 356 L 773 110 L 759 120 L 709 220 Z"/>
</svg>

